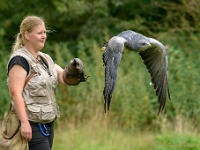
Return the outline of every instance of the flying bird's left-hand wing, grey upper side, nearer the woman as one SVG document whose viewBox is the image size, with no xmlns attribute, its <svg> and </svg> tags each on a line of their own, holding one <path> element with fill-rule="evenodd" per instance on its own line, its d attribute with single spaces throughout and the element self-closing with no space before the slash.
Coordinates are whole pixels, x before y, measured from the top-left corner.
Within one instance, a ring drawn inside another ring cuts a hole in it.
<svg viewBox="0 0 200 150">
<path fill-rule="evenodd" d="M 105 52 L 103 53 L 103 63 L 105 65 L 105 86 L 104 95 L 104 110 L 109 110 L 112 93 L 117 81 L 117 70 L 122 58 L 125 39 L 114 36 L 108 41 Z M 107 106 L 107 108 L 106 108 Z"/>
</svg>

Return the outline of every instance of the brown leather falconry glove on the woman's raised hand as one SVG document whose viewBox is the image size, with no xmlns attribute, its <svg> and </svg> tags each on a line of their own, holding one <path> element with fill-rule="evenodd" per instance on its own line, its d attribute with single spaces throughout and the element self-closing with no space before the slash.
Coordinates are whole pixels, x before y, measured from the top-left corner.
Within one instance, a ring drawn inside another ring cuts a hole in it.
<svg viewBox="0 0 200 150">
<path fill-rule="evenodd" d="M 84 74 L 84 64 L 79 58 L 72 59 L 63 72 L 63 80 L 68 85 L 77 85 L 87 81 L 87 78 Z"/>
</svg>

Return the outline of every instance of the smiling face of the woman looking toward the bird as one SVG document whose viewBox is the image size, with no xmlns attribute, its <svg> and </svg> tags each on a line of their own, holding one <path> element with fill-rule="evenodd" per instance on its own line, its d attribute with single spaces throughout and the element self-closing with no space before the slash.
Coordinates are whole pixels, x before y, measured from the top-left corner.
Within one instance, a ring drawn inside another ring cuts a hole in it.
<svg viewBox="0 0 200 150">
<path fill-rule="evenodd" d="M 37 51 L 41 50 L 47 38 L 44 23 L 36 26 L 31 32 L 26 32 L 25 37 L 29 46 Z"/>
</svg>

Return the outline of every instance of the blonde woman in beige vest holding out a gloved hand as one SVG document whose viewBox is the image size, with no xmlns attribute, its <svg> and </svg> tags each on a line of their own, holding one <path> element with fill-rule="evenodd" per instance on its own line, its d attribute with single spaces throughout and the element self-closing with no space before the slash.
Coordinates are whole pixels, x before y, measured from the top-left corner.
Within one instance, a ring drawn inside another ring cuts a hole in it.
<svg viewBox="0 0 200 150">
<path fill-rule="evenodd" d="M 84 81 L 79 77 L 83 75 L 80 59 L 72 60 L 62 69 L 49 55 L 40 52 L 46 39 L 42 18 L 24 18 L 7 67 L 13 109 L 21 122 L 21 136 L 29 141 L 30 150 L 52 148 L 54 120 L 59 117 L 55 99 L 57 83 L 77 85 Z"/>
</svg>

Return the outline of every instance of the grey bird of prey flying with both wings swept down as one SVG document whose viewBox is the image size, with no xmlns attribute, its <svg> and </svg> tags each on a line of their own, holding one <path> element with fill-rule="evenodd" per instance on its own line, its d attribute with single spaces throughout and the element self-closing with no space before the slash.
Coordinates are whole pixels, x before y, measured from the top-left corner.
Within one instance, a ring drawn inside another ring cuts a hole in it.
<svg viewBox="0 0 200 150">
<path fill-rule="evenodd" d="M 153 38 L 148 38 L 131 30 L 113 36 L 108 42 L 104 43 L 104 47 L 105 51 L 102 58 L 105 66 L 105 86 L 103 90 L 105 113 L 110 108 L 124 47 L 139 53 L 142 58 L 156 91 L 160 105 L 158 114 L 161 113 L 165 107 L 167 95 L 170 99 L 166 47 Z"/>
</svg>

